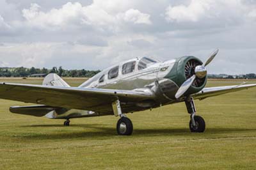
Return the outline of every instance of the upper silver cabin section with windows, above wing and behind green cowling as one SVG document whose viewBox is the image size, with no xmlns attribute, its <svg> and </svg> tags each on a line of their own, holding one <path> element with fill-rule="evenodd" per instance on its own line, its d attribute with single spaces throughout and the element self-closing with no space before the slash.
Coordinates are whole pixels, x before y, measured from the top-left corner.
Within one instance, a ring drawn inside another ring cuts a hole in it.
<svg viewBox="0 0 256 170">
<path fill-rule="evenodd" d="M 143 60 L 148 61 L 148 63 L 145 65 L 141 64 Z M 152 86 L 152 83 L 163 79 L 163 77 L 172 70 L 175 61 L 176 59 L 172 59 L 162 63 L 150 58 L 130 59 L 102 70 L 102 72 L 88 79 L 88 81 L 84 82 L 79 87 L 129 90 L 148 88 Z M 159 68 L 163 67 L 165 67 L 165 69 L 159 72 Z M 113 72 L 111 72 L 111 70 L 113 70 Z"/>
</svg>

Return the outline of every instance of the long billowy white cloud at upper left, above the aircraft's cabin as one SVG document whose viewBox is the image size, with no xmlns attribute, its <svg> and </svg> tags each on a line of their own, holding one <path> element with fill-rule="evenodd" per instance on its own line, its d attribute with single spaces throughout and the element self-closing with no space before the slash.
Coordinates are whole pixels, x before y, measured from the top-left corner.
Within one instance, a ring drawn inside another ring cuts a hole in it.
<svg viewBox="0 0 256 170">
<path fill-rule="evenodd" d="M 97 4 L 99 4 L 98 1 L 88 6 L 69 2 L 59 9 L 52 8 L 49 12 L 43 12 L 38 4 L 33 3 L 29 9 L 22 10 L 22 15 L 31 26 L 46 29 L 69 26 L 107 26 L 108 29 L 115 31 L 121 17 L 125 22 L 134 24 L 151 23 L 150 15 L 141 13 L 139 10 L 130 9 L 125 13 L 108 13 L 103 6 Z"/>
</svg>

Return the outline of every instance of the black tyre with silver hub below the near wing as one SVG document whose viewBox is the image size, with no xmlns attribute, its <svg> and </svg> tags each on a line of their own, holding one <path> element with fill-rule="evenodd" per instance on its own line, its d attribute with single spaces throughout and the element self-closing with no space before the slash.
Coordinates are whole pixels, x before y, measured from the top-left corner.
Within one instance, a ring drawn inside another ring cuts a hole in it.
<svg viewBox="0 0 256 170">
<path fill-rule="evenodd" d="M 122 117 L 117 121 L 116 131 L 118 135 L 131 135 L 132 130 L 132 121 L 129 118 Z"/>
</svg>

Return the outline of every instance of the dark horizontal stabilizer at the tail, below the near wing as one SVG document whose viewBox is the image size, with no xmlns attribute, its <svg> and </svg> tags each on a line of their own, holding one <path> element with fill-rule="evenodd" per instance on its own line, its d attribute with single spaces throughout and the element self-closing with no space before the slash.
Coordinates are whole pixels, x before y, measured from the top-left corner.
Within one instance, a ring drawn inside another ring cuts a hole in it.
<svg viewBox="0 0 256 170">
<path fill-rule="evenodd" d="M 45 114 L 54 109 L 56 108 L 47 105 L 12 106 L 10 107 L 10 112 L 40 117 L 45 116 Z"/>
</svg>

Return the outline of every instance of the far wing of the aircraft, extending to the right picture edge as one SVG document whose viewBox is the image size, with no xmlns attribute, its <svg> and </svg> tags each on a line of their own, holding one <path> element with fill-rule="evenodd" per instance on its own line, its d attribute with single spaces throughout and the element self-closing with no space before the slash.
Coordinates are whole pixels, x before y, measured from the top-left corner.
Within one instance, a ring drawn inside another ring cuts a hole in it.
<svg viewBox="0 0 256 170">
<path fill-rule="evenodd" d="M 223 87 L 214 87 L 214 88 L 204 88 L 202 91 L 191 95 L 191 97 L 195 99 L 203 100 L 208 97 L 215 97 L 218 95 L 223 95 L 225 93 L 231 93 L 234 91 L 240 91 L 243 89 L 253 88 L 256 84 L 246 84 L 246 85 L 238 85 L 238 86 L 223 86 Z"/>
</svg>

